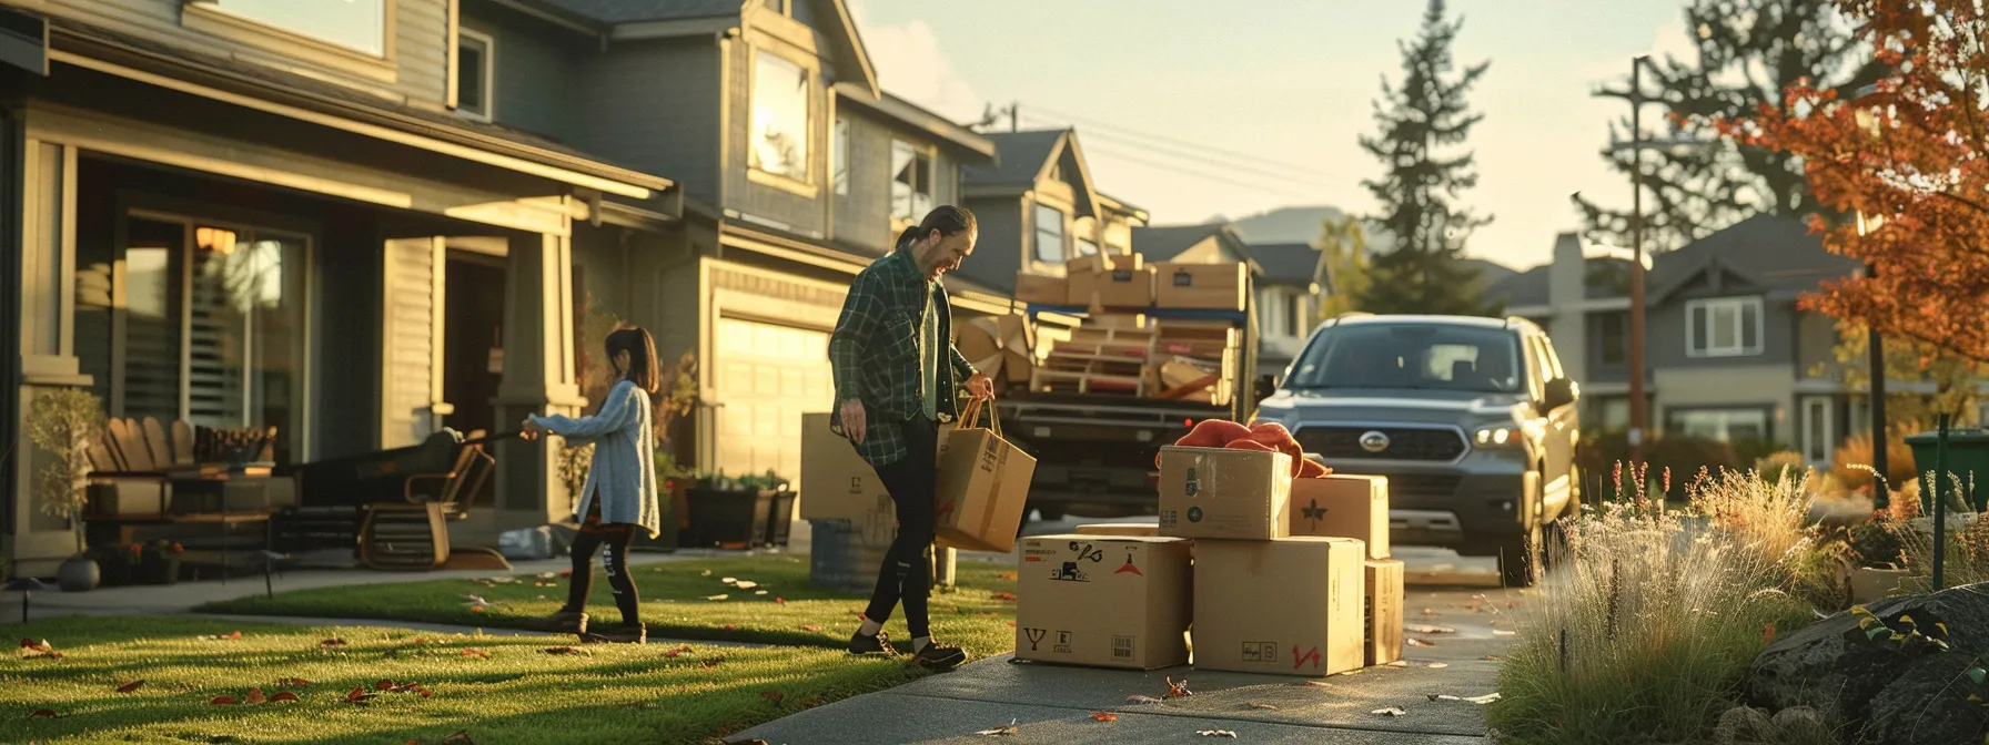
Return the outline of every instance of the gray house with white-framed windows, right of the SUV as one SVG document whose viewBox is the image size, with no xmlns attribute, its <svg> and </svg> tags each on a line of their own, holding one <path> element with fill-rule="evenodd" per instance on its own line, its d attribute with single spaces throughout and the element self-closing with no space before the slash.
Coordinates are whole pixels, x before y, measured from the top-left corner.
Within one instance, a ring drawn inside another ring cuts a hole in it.
<svg viewBox="0 0 1989 745">
<path fill-rule="evenodd" d="M 1796 308 L 1860 264 L 1802 221 L 1754 217 L 1651 260 L 1645 274 L 1649 427 L 1722 441 L 1774 441 L 1824 465 L 1870 429 L 1868 397 L 1844 383 L 1836 322 Z M 1553 262 L 1496 284 L 1508 314 L 1543 324 L 1581 383 L 1583 421 L 1629 425 L 1629 262 L 1585 256 L 1573 234 Z M 1890 381 L 1896 391 L 1919 381 Z"/>
</svg>

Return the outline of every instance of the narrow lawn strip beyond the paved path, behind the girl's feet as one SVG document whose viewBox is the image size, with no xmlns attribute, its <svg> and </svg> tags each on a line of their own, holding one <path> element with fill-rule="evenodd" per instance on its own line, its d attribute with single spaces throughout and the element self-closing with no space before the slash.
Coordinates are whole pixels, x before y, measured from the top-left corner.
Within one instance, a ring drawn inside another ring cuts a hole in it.
<svg viewBox="0 0 1989 745">
<path fill-rule="evenodd" d="M 599 564 L 595 568 L 599 574 Z M 802 556 L 716 558 L 634 566 L 642 622 L 650 638 L 760 642 L 841 648 L 867 596 L 808 586 Z M 740 590 L 726 578 L 754 582 Z M 959 588 L 935 592 L 933 634 L 973 658 L 1014 650 L 1014 572 L 1006 564 L 961 562 Z M 481 610 L 469 596 L 487 600 Z M 483 628 L 515 626 L 559 610 L 567 578 L 517 574 L 513 582 L 434 580 L 278 592 L 199 608 L 249 616 L 378 618 Z M 587 608 L 603 622 L 621 620 L 605 576 L 595 578 Z M 903 612 L 885 628 L 909 642 Z"/>
</svg>

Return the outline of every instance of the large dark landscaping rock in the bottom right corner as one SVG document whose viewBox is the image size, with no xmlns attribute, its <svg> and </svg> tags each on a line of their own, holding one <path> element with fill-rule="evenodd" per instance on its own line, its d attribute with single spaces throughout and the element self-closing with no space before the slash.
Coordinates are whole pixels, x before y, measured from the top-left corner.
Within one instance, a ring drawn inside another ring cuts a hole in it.
<svg viewBox="0 0 1989 745">
<path fill-rule="evenodd" d="M 1870 642 L 1850 612 L 1810 624 L 1770 646 L 1748 673 L 1748 703 L 1768 711 L 1814 709 L 1846 741 L 1981 743 L 1989 707 L 1969 701 L 1963 670 L 1989 662 L 1989 584 L 1874 602 L 1892 628 L 1945 624 L 1947 652 Z"/>
</svg>

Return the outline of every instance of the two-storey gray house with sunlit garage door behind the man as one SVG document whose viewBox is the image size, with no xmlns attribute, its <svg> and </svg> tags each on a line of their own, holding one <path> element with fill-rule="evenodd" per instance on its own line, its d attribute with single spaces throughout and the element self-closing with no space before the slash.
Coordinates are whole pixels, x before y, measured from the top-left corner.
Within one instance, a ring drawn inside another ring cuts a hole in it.
<svg viewBox="0 0 1989 745">
<path fill-rule="evenodd" d="M 664 360 L 696 354 L 690 465 L 798 479 L 798 413 L 833 405 L 827 340 L 849 280 L 905 224 L 959 201 L 961 167 L 989 163 L 994 143 L 881 91 L 839 0 L 463 10 L 465 24 L 493 30 L 499 123 L 563 127 L 581 147 L 682 183 L 680 226 L 601 240 L 575 264 L 611 278 L 589 292 L 650 328 Z M 507 32 L 543 42 L 509 44 Z M 559 54 L 507 66 L 525 44 Z M 971 278 L 949 276 L 947 288 L 963 316 L 1008 308 Z"/>
</svg>

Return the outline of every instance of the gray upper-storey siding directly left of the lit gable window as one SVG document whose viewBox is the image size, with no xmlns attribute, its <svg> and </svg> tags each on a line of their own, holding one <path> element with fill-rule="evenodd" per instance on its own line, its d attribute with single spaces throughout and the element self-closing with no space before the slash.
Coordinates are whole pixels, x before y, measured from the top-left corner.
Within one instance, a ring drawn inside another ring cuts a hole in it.
<svg viewBox="0 0 1989 745">
<path fill-rule="evenodd" d="M 636 171 L 666 173 L 690 199 L 716 201 L 722 77 L 710 38 L 615 44 L 569 79 L 585 111 L 575 145 Z"/>
</svg>

